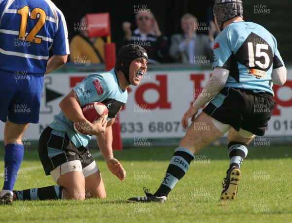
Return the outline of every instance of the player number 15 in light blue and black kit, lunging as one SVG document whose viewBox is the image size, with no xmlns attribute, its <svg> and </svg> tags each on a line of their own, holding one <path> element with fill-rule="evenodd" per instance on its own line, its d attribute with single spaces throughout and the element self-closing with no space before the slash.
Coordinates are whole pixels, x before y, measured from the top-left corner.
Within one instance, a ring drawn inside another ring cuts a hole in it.
<svg viewBox="0 0 292 223">
<path fill-rule="evenodd" d="M 235 199 L 248 144 L 255 135 L 265 133 L 275 104 L 273 84 L 283 85 L 287 75 L 276 39 L 264 27 L 243 20 L 241 0 L 215 0 L 213 12 L 221 33 L 214 44 L 213 75 L 183 115 L 183 128 L 190 117 L 193 123 L 175 150 L 158 190 L 150 194 L 144 188 L 146 197 L 130 198 L 129 202 L 165 202 L 186 173 L 193 154 L 227 131 L 230 166 L 220 200 Z M 206 123 L 210 130 L 198 130 L 200 123 Z"/>
</svg>

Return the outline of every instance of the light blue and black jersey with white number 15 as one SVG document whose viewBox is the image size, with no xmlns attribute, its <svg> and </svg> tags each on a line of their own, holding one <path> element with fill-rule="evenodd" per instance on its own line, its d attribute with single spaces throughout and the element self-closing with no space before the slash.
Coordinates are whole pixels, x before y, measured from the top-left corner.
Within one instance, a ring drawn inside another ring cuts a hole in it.
<svg viewBox="0 0 292 223">
<path fill-rule="evenodd" d="M 284 66 L 274 36 L 253 22 L 233 22 L 215 39 L 213 68 L 230 71 L 225 87 L 274 95 L 272 70 Z"/>
</svg>

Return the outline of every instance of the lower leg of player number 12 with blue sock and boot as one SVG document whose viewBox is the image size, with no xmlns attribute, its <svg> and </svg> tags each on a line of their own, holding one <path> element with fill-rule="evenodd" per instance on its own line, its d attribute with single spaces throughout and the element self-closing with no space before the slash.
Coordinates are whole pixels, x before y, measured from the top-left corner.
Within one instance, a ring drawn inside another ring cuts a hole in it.
<svg viewBox="0 0 292 223">
<path fill-rule="evenodd" d="M 17 174 L 23 160 L 24 147 L 22 136 L 29 124 L 15 124 L 6 121 L 4 127 L 4 177 L 3 188 L 0 193 L 0 204 L 13 203 L 13 187 L 17 179 Z"/>
</svg>

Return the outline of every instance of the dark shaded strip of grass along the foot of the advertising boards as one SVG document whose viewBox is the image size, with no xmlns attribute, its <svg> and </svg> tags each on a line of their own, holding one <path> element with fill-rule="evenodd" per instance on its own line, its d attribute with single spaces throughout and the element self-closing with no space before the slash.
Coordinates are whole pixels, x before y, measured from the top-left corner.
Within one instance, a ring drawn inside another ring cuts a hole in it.
<svg viewBox="0 0 292 223">
<path fill-rule="evenodd" d="M 176 147 L 136 147 L 114 150 L 114 156 L 119 161 L 170 161 Z M 0 161 L 3 161 L 4 148 L 0 149 Z M 99 152 L 97 147 L 90 147 L 91 154 Z M 289 146 L 267 146 L 248 148 L 247 159 L 287 159 L 292 158 Z M 96 160 L 104 160 L 102 156 Z M 208 146 L 195 154 L 195 160 L 228 160 L 227 147 Z M 37 147 L 29 147 L 24 151 L 26 161 L 39 161 Z"/>
</svg>

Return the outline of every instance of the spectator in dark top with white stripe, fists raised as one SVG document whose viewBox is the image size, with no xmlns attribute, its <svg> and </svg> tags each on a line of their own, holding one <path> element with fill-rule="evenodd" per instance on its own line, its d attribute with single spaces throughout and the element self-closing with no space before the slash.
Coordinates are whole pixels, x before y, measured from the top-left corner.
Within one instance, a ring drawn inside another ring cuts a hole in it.
<svg viewBox="0 0 292 223">
<path fill-rule="evenodd" d="M 161 33 L 150 9 L 136 14 L 136 24 L 138 28 L 132 33 L 131 23 L 123 22 L 122 28 L 125 37 L 122 44 L 135 44 L 145 48 L 149 64 L 164 62 L 169 49 L 168 39 Z"/>
</svg>

